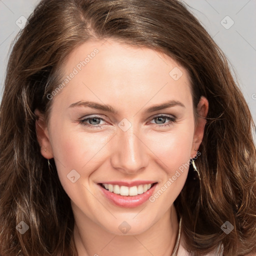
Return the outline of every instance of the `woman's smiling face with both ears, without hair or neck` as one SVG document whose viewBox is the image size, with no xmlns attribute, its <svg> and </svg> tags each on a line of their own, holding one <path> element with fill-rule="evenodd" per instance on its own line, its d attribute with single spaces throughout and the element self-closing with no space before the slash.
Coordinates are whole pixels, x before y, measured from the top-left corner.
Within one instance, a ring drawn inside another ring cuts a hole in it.
<svg viewBox="0 0 256 256">
<path fill-rule="evenodd" d="M 170 210 L 203 136 L 187 71 L 158 51 L 110 39 L 80 45 L 63 70 L 66 80 L 48 95 L 48 125 L 40 116 L 36 127 L 75 218 L 115 234 L 123 221 L 129 234 L 147 230 Z M 197 110 L 206 115 L 204 97 Z"/>
</svg>

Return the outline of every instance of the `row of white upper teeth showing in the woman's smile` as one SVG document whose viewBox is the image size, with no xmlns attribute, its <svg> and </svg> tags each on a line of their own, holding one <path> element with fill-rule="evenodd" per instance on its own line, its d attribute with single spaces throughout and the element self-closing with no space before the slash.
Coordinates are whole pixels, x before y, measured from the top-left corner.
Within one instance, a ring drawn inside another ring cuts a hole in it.
<svg viewBox="0 0 256 256">
<path fill-rule="evenodd" d="M 112 184 L 103 184 L 103 186 L 105 187 L 105 189 L 109 190 L 110 192 L 113 192 L 115 194 L 120 194 L 120 195 L 129 195 L 129 196 L 133 196 L 133 195 L 137 195 L 137 194 L 142 194 L 144 192 L 146 192 L 148 189 L 150 189 L 150 187 L 152 186 L 152 184 L 141 184 L 138 186 L 119 186 L 119 185 L 112 185 Z"/>
</svg>

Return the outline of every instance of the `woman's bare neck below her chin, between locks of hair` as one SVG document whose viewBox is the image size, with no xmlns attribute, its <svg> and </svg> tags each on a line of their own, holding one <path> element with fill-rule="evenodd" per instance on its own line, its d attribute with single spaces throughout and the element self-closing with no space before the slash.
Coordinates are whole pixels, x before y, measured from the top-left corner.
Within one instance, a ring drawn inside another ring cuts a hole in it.
<svg viewBox="0 0 256 256">
<path fill-rule="evenodd" d="M 116 235 L 75 209 L 73 238 L 78 256 L 170 256 L 178 233 L 174 205 L 143 233 Z M 86 227 L 86 228 L 84 228 Z"/>
</svg>

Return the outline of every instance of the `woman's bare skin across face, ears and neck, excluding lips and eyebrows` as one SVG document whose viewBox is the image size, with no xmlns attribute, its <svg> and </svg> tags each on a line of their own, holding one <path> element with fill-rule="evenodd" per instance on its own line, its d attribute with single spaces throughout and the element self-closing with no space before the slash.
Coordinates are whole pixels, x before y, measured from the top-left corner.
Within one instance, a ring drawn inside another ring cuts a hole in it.
<svg viewBox="0 0 256 256">
<path fill-rule="evenodd" d="M 87 54 L 90 59 L 51 100 L 48 123 L 37 109 L 36 131 L 41 154 L 54 157 L 60 182 L 71 199 L 75 218 L 74 240 L 79 256 L 162 255 L 173 250 L 178 231 L 173 201 L 180 193 L 188 168 L 157 198 L 124 208 L 111 203 L 97 185 L 111 180 L 155 180 L 155 191 L 194 157 L 205 125 L 196 117 L 187 71 L 170 57 L 145 47 L 131 47 L 108 39 L 87 41 L 78 46 L 63 64 L 65 75 Z M 174 80 L 169 72 L 182 71 Z M 145 109 L 168 100 L 174 105 L 147 113 Z M 116 114 L 85 106 L 69 107 L 78 101 L 109 104 Z M 205 117 L 208 101 L 201 97 L 197 112 Z M 96 114 L 100 119 L 79 120 Z M 155 115 L 176 117 L 156 118 Z M 126 118 L 126 131 L 118 123 Z M 161 126 L 168 123 L 169 126 Z M 44 150 L 46 149 L 46 151 Z M 72 183 L 67 174 L 75 169 L 80 178 Z M 107 182 L 106 182 L 107 183 Z M 130 230 L 118 226 L 126 221 Z"/>
</svg>

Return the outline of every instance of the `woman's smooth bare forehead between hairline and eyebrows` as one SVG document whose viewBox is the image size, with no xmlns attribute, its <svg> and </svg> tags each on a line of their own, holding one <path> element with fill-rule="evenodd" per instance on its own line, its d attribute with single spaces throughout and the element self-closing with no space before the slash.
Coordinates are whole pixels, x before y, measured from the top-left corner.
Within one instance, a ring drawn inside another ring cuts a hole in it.
<svg viewBox="0 0 256 256">
<path fill-rule="evenodd" d="M 88 95 L 102 102 L 121 99 L 129 103 L 136 100 L 157 103 L 154 101 L 173 97 L 191 101 L 185 68 L 169 56 L 146 47 L 110 39 L 87 41 L 69 54 L 62 70 L 63 80 L 69 78 L 59 94 L 65 94 L 62 97 L 68 103 Z"/>
</svg>

